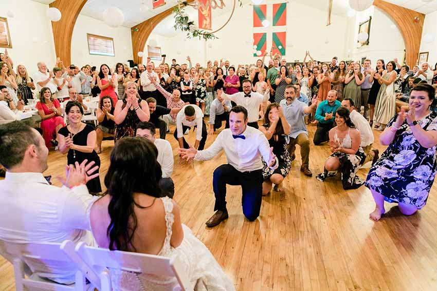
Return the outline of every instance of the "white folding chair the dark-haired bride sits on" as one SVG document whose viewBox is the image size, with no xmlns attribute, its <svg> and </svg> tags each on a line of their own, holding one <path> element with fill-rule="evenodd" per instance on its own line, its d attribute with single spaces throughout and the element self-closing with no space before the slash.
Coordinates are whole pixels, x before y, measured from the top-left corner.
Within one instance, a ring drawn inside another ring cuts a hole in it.
<svg viewBox="0 0 437 291">
<path fill-rule="evenodd" d="M 178 282 L 178 285 L 173 287 L 173 291 L 194 290 L 177 257 L 167 258 L 131 253 L 129 251 L 90 247 L 83 242 L 76 246 L 76 253 L 96 274 L 100 273 L 101 291 L 112 290 L 110 274 L 99 271 L 102 268 L 173 277 Z"/>
</svg>

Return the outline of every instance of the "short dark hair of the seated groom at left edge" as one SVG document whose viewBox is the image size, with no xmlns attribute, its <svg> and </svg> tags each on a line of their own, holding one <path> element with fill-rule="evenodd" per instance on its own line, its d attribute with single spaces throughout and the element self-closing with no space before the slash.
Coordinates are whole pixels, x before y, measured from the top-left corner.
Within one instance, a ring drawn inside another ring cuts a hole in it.
<svg viewBox="0 0 437 291">
<path fill-rule="evenodd" d="M 40 148 L 40 140 L 32 128 L 23 121 L 0 125 L 0 164 L 6 169 L 23 162 L 29 145 Z"/>
</svg>

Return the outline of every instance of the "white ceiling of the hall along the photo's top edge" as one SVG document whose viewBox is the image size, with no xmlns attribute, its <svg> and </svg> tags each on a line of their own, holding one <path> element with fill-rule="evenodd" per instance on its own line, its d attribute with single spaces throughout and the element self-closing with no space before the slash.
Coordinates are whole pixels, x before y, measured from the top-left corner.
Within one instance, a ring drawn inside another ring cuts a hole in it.
<svg viewBox="0 0 437 291">
<path fill-rule="evenodd" d="M 43 4 L 50 4 L 54 2 L 53 0 L 33 0 L 35 2 L 40 2 Z M 71 0 L 75 1 L 75 0 Z M 225 0 L 228 2 L 229 0 Z M 264 2 L 270 2 L 276 0 L 264 0 Z M 437 11 L 437 0 L 431 2 L 424 2 L 422 0 L 386 0 L 387 2 L 409 8 L 424 14 Z M 429 0 L 428 0 L 429 1 Z M 151 0 L 88 0 L 83 7 L 81 14 L 103 20 L 103 11 L 111 6 L 118 7 L 124 13 L 124 23 L 125 27 L 133 27 L 150 17 L 167 10 L 168 8 L 177 4 L 177 0 L 166 0 L 166 5 L 163 5 L 156 9 L 151 9 Z M 288 0 L 288 2 L 302 3 L 311 6 L 316 9 L 326 10 L 327 0 Z M 250 3 L 250 0 L 243 0 L 243 5 Z M 227 5 L 226 8 L 230 8 L 231 5 Z M 349 9 L 348 0 L 333 0 L 333 13 L 338 15 L 345 15 Z M 189 11 L 187 11 L 189 12 Z M 226 11 L 223 11 L 226 13 Z M 238 13 L 238 10 L 237 10 Z M 195 11 L 189 12 L 191 19 L 197 18 Z M 171 36 L 175 33 L 173 29 L 174 20 L 173 16 L 170 15 L 165 20 L 163 20 L 154 32 L 162 34 L 165 36 Z"/>
</svg>

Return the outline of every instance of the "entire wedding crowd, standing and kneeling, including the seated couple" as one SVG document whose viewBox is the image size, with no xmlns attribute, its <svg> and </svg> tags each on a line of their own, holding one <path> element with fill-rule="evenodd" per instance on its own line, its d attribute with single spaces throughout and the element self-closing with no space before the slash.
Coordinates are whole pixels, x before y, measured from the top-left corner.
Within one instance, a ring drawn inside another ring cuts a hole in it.
<svg viewBox="0 0 437 291">
<path fill-rule="evenodd" d="M 376 203 L 370 215 L 375 221 L 385 213 L 384 201 L 398 203 L 406 215 L 421 209 L 437 171 L 433 106 L 437 64 L 434 70 L 428 63 L 410 70 L 396 59 L 387 64 L 377 60 L 375 67 L 371 60 L 338 62 L 337 57 L 322 63 L 307 51 L 303 63 L 287 63 L 279 54 L 266 53 L 255 64 L 238 66 L 223 60 L 193 66 L 187 56 L 183 64 L 175 59 L 171 64 L 165 59 L 160 64 L 148 60 L 135 68 L 117 63 L 113 69 L 102 64 L 96 70 L 89 65 L 65 67 L 58 59 L 52 69 L 38 63 L 38 71 L 30 77 L 23 65 L 14 71 L 7 51 L 0 59 L 0 120 L 10 122 L 0 126 L 0 163 L 7 169 L 1 195 L 14 193 L 14 199 L 29 199 L 18 183 L 30 178 L 25 187 L 43 183 L 35 189 L 50 188 L 54 193 L 42 172 L 47 168 L 47 148 L 55 148 L 67 154 L 70 166 L 64 184 L 71 190 L 59 190 L 62 205 L 53 211 L 67 207 L 66 201 L 76 203 L 72 209 L 77 216 L 68 219 L 74 229 L 92 230 L 95 241 L 86 239 L 91 245 L 164 256 L 179 252 L 197 258 L 186 262 L 187 269 L 192 281 L 216 286 L 208 290 L 232 290 L 233 285 L 208 249 L 180 222 L 172 200 L 174 154 L 166 140 L 171 129 L 181 160 L 205 161 L 222 150 L 226 153 L 228 163 L 213 173 L 215 213 L 206 222 L 209 227 L 228 218 L 227 184 L 242 186 L 243 214 L 249 221 L 257 219 L 262 196 L 283 190 L 296 145 L 301 172 L 313 176 L 309 124 L 316 126 L 314 145 L 326 145 L 332 152 L 316 179 L 324 182 L 340 176 L 345 190 L 366 185 Z M 83 121 L 89 114 L 84 101 L 88 96 L 99 96 L 97 126 Z M 13 122 L 21 120 L 32 100 L 40 117 L 33 123 L 38 124 Z M 388 145 L 381 156 L 373 147 L 372 127 L 383 131 L 380 143 Z M 191 145 L 184 135 L 192 129 L 196 133 Z M 213 144 L 205 148 L 208 136 L 215 132 L 219 133 Z M 107 190 L 100 196 L 103 139 L 113 139 L 115 146 L 104 178 Z M 363 180 L 357 172 L 368 162 L 372 167 Z M 30 177 L 28 173 L 38 174 Z M 77 195 L 80 201 L 73 201 Z M 37 225 L 39 209 L 28 211 L 34 211 Z M 6 223 L 3 216 L 0 221 Z M 59 229 L 52 232 L 72 239 L 74 231 L 57 225 Z M 10 239 L 11 234 L 2 229 L 0 225 L 0 239 Z M 155 236 L 144 236 L 148 231 Z M 21 239 L 37 241 L 35 234 Z M 199 266 L 201 257 L 196 252 L 208 259 L 208 266 Z"/>
</svg>

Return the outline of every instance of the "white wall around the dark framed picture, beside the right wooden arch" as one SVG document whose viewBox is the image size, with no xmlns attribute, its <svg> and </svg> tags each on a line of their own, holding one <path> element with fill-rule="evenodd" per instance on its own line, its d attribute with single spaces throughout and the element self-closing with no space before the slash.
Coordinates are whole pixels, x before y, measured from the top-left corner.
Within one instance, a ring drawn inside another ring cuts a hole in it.
<svg viewBox="0 0 437 291">
<path fill-rule="evenodd" d="M 357 48 L 359 23 L 368 20 L 369 16 L 372 16 L 369 45 Z M 375 64 L 378 59 L 383 59 L 387 64 L 397 57 L 399 63 L 402 63 L 405 49 L 404 38 L 395 22 L 384 11 L 372 6 L 357 13 L 355 17 L 349 18 L 347 26 L 348 60 L 360 61 L 362 57 L 367 57 L 372 64 Z"/>
</svg>

